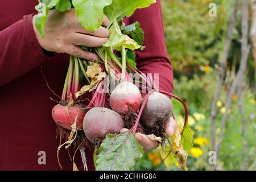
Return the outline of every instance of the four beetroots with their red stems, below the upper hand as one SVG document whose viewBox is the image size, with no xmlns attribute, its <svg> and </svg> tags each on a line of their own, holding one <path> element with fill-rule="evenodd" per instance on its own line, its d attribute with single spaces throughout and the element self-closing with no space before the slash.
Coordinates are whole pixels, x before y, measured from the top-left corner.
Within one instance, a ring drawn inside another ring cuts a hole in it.
<svg viewBox="0 0 256 182">
<path fill-rule="evenodd" d="M 117 55 L 113 53 L 113 56 L 118 60 Z M 106 70 L 105 65 L 112 68 L 111 73 Z M 129 128 L 133 130 L 133 133 L 139 126 L 140 132 L 163 137 L 164 127 L 170 120 L 173 110 L 172 102 L 167 96 L 177 97 L 156 89 L 154 80 L 142 75 L 126 62 L 125 65 L 127 67 L 123 75 L 122 68 L 119 68 L 113 60 L 108 60 L 106 64 L 104 60 L 99 60 L 98 63 L 88 63 L 79 57 L 71 56 L 62 100 L 52 109 L 52 117 L 56 124 L 64 129 L 72 130 L 72 125 L 76 122 L 76 128 L 84 130 L 86 138 L 94 144 L 99 139 L 104 139 L 108 133 L 118 134 L 130 123 L 133 123 Z M 100 72 L 97 73 L 99 69 Z M 134 72 L 142 78 L 142 82 L 150 85 L 143 99 L 140 90 L 143 84 L 135 85 L 126 69 Z M 79 80 L 80 72 L 83 73 L 87 83 L 82 88 L 80 86 L 82 82 Z M 96 73 L 92 76 L 90 72 Z M 104 76 L 99 77 L 102 74 Z M 95 79 L 98 79 L 98 82 L 95 83 Z M 108 81 L 113 79 L 118 81 L 114 82 L 115 88 L 111 90 Z M 85 105 L 78 98 L 90 91 L 93 92 L 92 99 L 88 105 Z M 135 117 L 131 117 L 134 115 Z M 141 121 L 140 125 L 139 121 Z"/>
</svg>

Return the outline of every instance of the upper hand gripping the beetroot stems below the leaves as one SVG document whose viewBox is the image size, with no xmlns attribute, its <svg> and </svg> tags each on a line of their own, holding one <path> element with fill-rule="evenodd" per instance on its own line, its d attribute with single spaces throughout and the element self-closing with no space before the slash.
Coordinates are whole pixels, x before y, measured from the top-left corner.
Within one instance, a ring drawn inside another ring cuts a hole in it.
<svg viewBox="0 0 256 182">
<path fill-rule="evenodd" d="M 46 51 L 68 53 L 69 55 L 82 57 L 88 60 L 98 60 L 98 56 L 91 52 L 82 50 L 79 46 L 100 47 L 106 43 L 109 31 L 100 27 L 95 32 L 85 30 L 79 23 L 75 14 L 75 9 L 71 9 L 64 13 L 57 10 L 50 10 L 46 22 L 45 38 L 40 38 L 40 33 L 35 27 L 35 17 L 33 17 L 33 25 L 36 38 L 40 46 Z M 102 23 L 108 26 L 109 20 L 104 15 Z"/>
</svg>

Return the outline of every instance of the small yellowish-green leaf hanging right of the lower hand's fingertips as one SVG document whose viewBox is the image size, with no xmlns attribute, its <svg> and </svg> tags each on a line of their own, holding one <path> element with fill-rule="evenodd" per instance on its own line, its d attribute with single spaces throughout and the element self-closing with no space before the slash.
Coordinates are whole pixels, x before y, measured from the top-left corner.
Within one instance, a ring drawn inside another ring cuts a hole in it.
<svg viewBox="0 0 256 182">
<path fill-rule="evenodd" d="M 181 135 L 181 145 L 183 146 L 186 152 L 189 152 L 193 146 L 193 135 L 194 131 L 187 125 Z"/>
</svg>

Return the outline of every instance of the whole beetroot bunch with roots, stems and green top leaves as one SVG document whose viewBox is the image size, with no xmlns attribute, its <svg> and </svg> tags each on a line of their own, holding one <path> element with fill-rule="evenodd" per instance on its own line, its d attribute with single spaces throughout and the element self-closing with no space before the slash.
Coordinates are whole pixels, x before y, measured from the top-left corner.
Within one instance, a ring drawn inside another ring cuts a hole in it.
<svg viewBox="0 0 256 182">
<path fill-rule="evenodd" d="M 144 32 L 139 22 L 125 26 L 122 21 L 136 9 L 152 3 L 155 0 L 98 0 L 88 6 L 85 0 L 39 0 L 36 6 L 39 14 L 35 21 L 42 38 L 50 9 L 67 11 L 75 8 L 80 23 L 90 31 L 96 31 L 101 26 L 104 14 L 110 22 L 106 27 L 110 32 L 108 42 L 100 48 L 82 47 L 96 53 L 100 57 L 98 61 L 70 56 L 61 101 L 52 109 L 52 118 L 61 129 L 60 135 L 62 131 L 70 133 L 66 135 L 67 142 L 61 144 L 60 140 L 58 151 L 64 144 L 68 148 L 72 143 L 78 146 L 77 149 L 84 148 L 82 144 L 87 143 L 85 138 L 98 146 L 107 134 L 118 134 L 123 127 L 130 130 L 129 135 L 141 132 L 164 138 L 164 127 L 173 115 L 169 97 L 183 104 L 185 129 L 187 107 L 184 102 L 171 93 L 159 90 L 151 76 L 142 74 L 136 68 L 134 51 L 145 48 Z M 139 80 L 130 73 L 137 75 Z M 141 90 L 146 90 L 143 98 Z M 85 93 L 92 93 L 92 98 L 86 98 Z M 179 147 L 180 143 L 175 148 L 175 155 L 182 155 L 182 152 L 177 152 Z M 73 167 L 75 169 L 76 165 Z"/>
</svg>

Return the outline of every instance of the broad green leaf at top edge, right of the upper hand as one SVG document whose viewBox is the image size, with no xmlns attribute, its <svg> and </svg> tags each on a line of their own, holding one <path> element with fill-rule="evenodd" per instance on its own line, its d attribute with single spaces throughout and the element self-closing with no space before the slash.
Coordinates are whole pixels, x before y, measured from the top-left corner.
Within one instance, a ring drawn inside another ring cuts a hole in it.
<svg viewBox="0 0 256 182">
<path fill-rule="evenodd" d="M 104 13 L 112 24 L 114 20 L 119 21 L 125 16 L 129 17 L 136 9 L 148 7 L 155 2 L 155 0 L 112 0 L 112 4 L 104 8 Z"/>
</svg>

